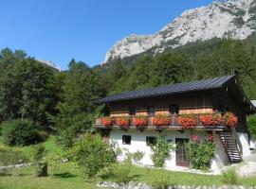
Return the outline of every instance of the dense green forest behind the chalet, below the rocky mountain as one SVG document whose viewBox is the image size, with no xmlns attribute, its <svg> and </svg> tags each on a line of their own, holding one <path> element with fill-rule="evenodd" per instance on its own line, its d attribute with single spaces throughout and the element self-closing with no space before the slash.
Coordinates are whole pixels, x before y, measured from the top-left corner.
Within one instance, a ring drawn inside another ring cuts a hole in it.
<svg viewBox="0 0 256 189">
<path fill-rule="evenodd" d="M 105 111 L 95 100 L 108 94 L 236 74 L 248 98 L 256 99 L 255 42 L 256 34 L 245 41 L 213 39 L 94 67 L 73 59 L 63 72 L 22 50 L 2 49 L 0 123 L 27 120 L 70 147 Z"/>
</svg>

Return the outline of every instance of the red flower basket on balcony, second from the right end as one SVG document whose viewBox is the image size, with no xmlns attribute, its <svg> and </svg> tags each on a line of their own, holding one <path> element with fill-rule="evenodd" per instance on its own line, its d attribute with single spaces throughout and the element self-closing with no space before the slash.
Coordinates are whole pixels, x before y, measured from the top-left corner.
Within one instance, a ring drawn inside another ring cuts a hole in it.
<svg viewBox="0 0 256 189">
<path fill-rule="evenodd" d="M 222 117 L 219 113 L 207 113 L 200 115 L 200 121 L 203 126 L 220 126 L 222 123 Z"/>
</svg>

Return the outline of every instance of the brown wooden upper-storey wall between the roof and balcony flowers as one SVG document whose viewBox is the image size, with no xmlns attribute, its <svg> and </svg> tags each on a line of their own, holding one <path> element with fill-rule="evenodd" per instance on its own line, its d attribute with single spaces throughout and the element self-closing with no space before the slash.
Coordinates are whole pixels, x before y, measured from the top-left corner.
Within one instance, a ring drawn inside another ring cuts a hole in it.
<svg viewBox="0 0 256 189">
<path fill-rule="evenodd" d="M 178 105 L 181 114 L 212 112 L 211 99 L 211 92 L 130 99 L 110 103 L 110 115 L 127 116 L 129 107 L 136 107 L 137 115 L 147 115 L 149 106 L 155 107 L 155 114 L 169 113 L 169 106 L 172 104 Z"/>
</svg>

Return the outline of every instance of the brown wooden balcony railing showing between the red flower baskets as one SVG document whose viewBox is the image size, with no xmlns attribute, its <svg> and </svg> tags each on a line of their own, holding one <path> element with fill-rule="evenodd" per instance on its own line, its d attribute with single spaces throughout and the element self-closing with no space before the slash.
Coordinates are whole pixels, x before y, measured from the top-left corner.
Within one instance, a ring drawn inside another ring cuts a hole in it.
<svg viewBox="0 0 256 189">
<path fill-rule="evenodd" d="M 194 126 L 194 128 L 197 128 L 197 129 L 224 129 L 225 126 L 224 124 L 222 124 L 221 122 L 218 124 L 218 125 L 203 125 L 202 124 L 202 121 L 201 121 L 201 115 L 205 115 L 203 113 L 201 114 L 193 114 L 193 116 L 195 116 L 195 121 L 196 121 L 196 124 Z M 148 129 L 161 129 L 161 128 L 165 128 L 165 129 L 182 129 L 184 128 L 178 121 L 179 117 L 180 116 L 184 116 L 183 114 L 174 114 L 174 115 L 169 115 L 168 116 L 168 119 L 170 120 L 170 125 L 166 126 L 166 127 L 160 127 L 160 126 L 155 126 L 154 124 L 154 118 L 155 116 L 144 116 L 146 118 L 146 122 L 147 122 L 147 125 L 145 126 L 145 128 L 148 128 Z M 120 116 L 121 117 L 121 116 Z M 96 128 L 119 128 L 119 125 L 118 125 L 118 122 L 117 120 L 120 118 L 120 117 L 111 117 L 111 127 L 105 127 L 103 125 L 103 122 L 102 122 L 102 117 L 98 117 L 96 118 L 96 121 L 95 121 L 95 127 Z M 136 116 L 128 116 L 127 118 L 129 118 L 129 124 L 127 126 L 127 128 L 136 128 L 136 125 L 134 124 L 134 118 Z"/>
</svg>

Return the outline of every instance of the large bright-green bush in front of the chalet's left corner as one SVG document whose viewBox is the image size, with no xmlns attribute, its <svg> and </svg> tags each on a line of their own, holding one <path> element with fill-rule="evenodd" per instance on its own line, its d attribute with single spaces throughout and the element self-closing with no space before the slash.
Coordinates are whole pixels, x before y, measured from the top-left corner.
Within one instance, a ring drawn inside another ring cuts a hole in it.
<svg viewBox="0 0 256 189">
<path fill-rule="evenodd" d="M 82 141 L 73 147 L 75 161 L 81 167 L 86 180 L 93 180 L 104 167 L 115 163 L 115 152 L 102 141 L 101 135 L 86 133 Z"/>
</svg>

